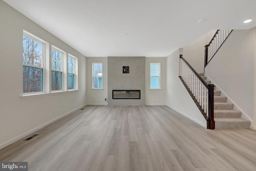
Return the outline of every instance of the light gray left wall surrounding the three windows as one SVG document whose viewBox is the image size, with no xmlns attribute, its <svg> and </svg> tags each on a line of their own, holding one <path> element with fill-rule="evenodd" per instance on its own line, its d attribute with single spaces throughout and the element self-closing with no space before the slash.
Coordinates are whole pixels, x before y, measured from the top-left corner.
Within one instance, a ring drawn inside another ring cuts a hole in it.
<svg viewBox="0 0 256 171">
<path fill-rule="evenodd" d="M 1 149 L 86 104 L 86 58 L 2 0 L 0 23 Z M 22 96 L 23 29 L 78 58 L 79 90 Z"/>
</svg>

